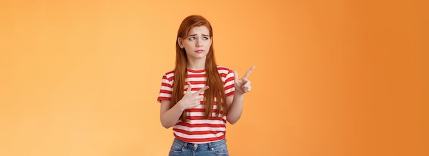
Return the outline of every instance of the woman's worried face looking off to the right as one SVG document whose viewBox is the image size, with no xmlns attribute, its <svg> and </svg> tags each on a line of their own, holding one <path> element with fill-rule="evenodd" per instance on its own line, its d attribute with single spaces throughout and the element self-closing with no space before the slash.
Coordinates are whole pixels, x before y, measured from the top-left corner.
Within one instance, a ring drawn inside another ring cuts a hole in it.
<svg viewBox="0 0 429 156">
<path fill-rule="evenodd" d="M 191 60 L 206 60 L 206 55 L 212 46 L 210 31 L 206 26 L 193 27 L 188 36 L 178 39 L 180 48 L 184 48 L 186 56 Z"/>
</svg>

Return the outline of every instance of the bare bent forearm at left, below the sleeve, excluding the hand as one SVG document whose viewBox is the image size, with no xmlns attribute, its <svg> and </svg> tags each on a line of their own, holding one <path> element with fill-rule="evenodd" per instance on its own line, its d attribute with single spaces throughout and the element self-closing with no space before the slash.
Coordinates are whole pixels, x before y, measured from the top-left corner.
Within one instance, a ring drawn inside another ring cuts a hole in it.
<svg viewBox="0 0 429 156">
<path fill-rule="evenodd" d="M 184 109 L 180 107 L 179 103 L 177 103 L 167 111 L 163 112 L 160 116 L 162 126 L 166 129 L 173 127 L 182 115 L 183 110 Z"/>
</svg>

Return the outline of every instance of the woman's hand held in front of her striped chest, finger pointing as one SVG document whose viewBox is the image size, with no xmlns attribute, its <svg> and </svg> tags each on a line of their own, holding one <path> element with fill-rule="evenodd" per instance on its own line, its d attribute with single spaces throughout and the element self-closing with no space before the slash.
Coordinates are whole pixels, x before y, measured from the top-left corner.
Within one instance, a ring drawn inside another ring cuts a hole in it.
<svg viewBox="0 0 429 156">
<path fill-rule="evenodd" d="M 186 90 L 186 94 L 183 96 L 183 98 L 177 102 L 180 103 L 180 109 L 184 111 L 185 109 L 191 109 L 193 107 L 197 107 L 201 101 L 203 101 L 204 96 L 200 95 L 204 90 L 208 89 L 208 86 L 205 86 L 204 88 L 201 88 L 197 92 L 192 93 L 191 92 L 191 83 L 188 82 L 188 90 Z"/>
</svg>

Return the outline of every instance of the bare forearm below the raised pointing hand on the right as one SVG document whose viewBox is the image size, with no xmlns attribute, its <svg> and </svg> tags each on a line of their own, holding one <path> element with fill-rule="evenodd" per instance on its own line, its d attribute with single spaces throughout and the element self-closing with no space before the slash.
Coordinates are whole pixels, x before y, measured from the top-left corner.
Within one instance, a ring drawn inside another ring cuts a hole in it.
<svg viewBox="0 0 429 156">
<path fill-rule="evenodd" d="M 243 97 L 244 94 L 237 92 L 234 94 L 234 99 L 232 99 L 232 103 L 228 107 L 227 120 L 230 124 L 235 124 L 243 113 Z"/>
</svg>

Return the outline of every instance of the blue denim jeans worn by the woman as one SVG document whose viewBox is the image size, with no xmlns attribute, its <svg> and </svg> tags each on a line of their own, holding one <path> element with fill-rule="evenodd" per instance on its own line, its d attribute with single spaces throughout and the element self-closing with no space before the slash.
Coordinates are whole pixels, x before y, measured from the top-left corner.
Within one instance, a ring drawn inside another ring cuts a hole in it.
<svg viewBox="0 0 429 156">
<path fill-rule="evenodd" d="M 210 156 L 210 155 L 224 155 L 229 156 L 228 149 L 226 148 L 226 140 L 219 140 L 217 142 L 210 142 L 206 144 L 193 144 L 183 142 L 174 138 L 173 145 L 171 145 L 169 156 Z"/>
</svg>

